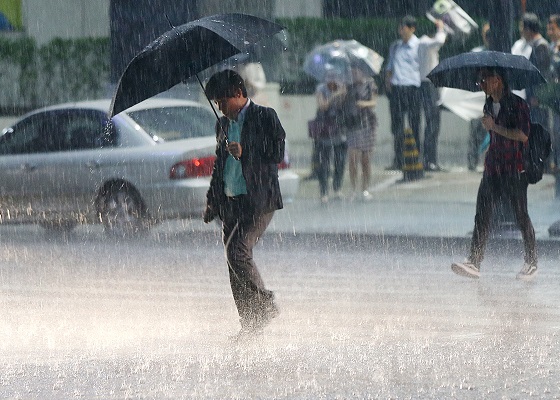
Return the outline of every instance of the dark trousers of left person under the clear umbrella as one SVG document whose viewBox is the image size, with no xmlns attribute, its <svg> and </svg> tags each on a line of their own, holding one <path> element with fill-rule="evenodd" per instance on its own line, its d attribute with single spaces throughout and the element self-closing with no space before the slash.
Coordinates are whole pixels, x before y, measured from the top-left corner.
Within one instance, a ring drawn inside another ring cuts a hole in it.
<svg viewBox="0 0 560 400">
<path fill-rule="evenodd" d="M 327 144 L 318 141 L 317 153 L 319 161 L 319 190 L 321 196 L 326 196 L 329 193 L 329 175 L 331 171 L 331 155 L 334 156 L 334 171 L 333 171 L 333 190 L 338 192 L 342 187 L 342 180 L 344 178 L 344 168 L 346 166 L 346 153 L 348 146 L 346 142 L 339 144 Z"/>
</svg>

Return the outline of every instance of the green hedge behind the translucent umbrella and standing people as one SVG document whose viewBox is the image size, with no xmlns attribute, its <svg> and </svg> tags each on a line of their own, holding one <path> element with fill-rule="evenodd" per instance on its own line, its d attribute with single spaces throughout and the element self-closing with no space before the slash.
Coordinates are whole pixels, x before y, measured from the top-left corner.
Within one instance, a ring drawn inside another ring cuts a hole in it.
<svg viewBox="0 0 560 400">
<path fill-rule="evenodd" d="M 387 59 L 389 46 L 399 38 L 399 18 L 293 18 L 280 19 L 278 23 L 286 27 L 288 35 L 287 68 L 281 82 L 284 93 L 305 93 L 313 90 L 314 83 L 305 75 L 302 67 L 305 55 L 317 45 L 336 39 L 355 39 Z M 427 18 L 418 19 L 418 36 L 430 34 L 434 29 L 434 24 Z M 478 32 L 465 41 L 448 38 L 440 50 L 440 57 L 469 51 L 478 45 Z"/>
</svg>

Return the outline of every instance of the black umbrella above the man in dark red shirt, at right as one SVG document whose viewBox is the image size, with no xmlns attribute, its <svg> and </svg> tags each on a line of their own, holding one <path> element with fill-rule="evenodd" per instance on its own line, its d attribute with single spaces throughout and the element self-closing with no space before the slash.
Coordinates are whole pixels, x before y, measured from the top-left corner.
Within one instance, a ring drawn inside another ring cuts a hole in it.
<svg viewBox="0 0 560 400">
<path fill-rule="evenodd" d="M 545 83 L 540 71 L 523 56 L 499 51 L 462 53 L 442 60 L 429 74 L 436 86 L 477 92 L 478 73 L 481 68 L 501 68 L 510 89 L 524 89 Z"/>
</svg>

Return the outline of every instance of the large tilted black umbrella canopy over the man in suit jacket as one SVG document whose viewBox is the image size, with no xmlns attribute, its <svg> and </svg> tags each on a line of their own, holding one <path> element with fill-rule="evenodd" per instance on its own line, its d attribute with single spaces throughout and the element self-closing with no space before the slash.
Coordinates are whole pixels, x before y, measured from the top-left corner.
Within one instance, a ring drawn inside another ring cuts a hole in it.
<svg viewBox="0 0 560 400">
<path fill-rule="evenodd" d="M 167 31 L 128 64 L 109 115 L 119 112 L 239 53 L 284 29 L 246 14 L 213 15 Z"/>
</svg>

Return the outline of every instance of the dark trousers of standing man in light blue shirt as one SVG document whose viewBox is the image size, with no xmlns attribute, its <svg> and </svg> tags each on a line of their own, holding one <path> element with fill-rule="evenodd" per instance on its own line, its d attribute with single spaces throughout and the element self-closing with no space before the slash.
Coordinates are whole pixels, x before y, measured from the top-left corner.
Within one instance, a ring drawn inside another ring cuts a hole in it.
<svg viewBox="0 0 560 400">
<path fill-rule="evenodd" d="M 420 88 L 416 86 L 392 86 L 389 108 L 395 149 L 394 164 L 397 168 L 402 168 L 404 164 L 405 115 L 408 115 L 408 125 L 414 134 L 416 147 L 420 148 Z"/>
</svg>

